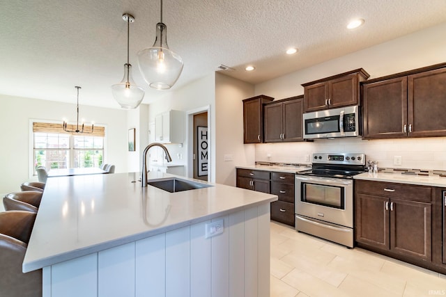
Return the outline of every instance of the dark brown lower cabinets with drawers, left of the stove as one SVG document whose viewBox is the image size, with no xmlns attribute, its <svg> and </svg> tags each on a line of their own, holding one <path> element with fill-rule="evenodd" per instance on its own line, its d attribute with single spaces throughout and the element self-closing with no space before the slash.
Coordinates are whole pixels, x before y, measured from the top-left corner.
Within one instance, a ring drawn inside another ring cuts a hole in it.
<svg viewBox="0 0 446 297">
<path fill-rule="evenodd" d="M 279 200 L 271 202 L 271 220 L 294 227 L 293 173 L 237 168 L 237 187 L 271 193 Z"/>
</svg>

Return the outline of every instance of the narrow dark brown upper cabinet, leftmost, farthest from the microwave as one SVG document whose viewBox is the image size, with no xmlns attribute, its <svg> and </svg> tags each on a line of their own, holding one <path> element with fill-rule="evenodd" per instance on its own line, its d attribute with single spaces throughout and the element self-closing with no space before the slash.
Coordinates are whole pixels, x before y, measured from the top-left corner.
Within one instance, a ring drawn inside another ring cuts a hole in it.
<svg viewBox="0 0 446 297">
<path fill-rule="evenodd" d="M 263 142 L 263 104 L 272 100 L 265 95 L 243 100 L 243 143 Z"/>
</svg>

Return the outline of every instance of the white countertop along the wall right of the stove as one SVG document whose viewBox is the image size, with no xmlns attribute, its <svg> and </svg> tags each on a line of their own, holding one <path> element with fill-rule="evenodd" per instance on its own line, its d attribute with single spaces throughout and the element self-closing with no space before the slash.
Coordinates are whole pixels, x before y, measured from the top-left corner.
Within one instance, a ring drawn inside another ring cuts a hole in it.
<svg viewBox="0 0 446 297">
<path fill-rule="evenodd" d="M 364 179 L 375 182 L 397 182 L 400 184 L 418 184 L 422 186 L 446 187 L 446 177 L 439 175 L 402 175 L 401 173 L 365 172 L 355 175 L 354 179 Z"/>
</svg>

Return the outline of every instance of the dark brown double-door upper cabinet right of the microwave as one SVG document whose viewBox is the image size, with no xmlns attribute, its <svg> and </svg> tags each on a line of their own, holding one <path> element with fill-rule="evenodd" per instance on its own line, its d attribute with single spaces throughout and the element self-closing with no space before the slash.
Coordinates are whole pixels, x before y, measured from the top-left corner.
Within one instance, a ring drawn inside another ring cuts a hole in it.
<svg viewBox="0 0 446 297">
<path fill-rule="evenodd" d="M 446 63 L 362 83 L 362 109 L 364 139 L 446 136 Z"/>
</svg>

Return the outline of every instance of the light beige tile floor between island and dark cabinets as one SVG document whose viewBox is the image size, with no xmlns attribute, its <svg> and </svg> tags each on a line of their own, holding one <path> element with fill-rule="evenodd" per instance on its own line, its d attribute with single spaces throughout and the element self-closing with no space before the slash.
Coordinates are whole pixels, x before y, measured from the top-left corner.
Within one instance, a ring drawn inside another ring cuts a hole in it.
<svg viewBox="0 0 446 297">
<path fill-rule="evenodd" d="M 271 221 L 271 297 L 446 296 L 446 275 Z"/>
</svg>

